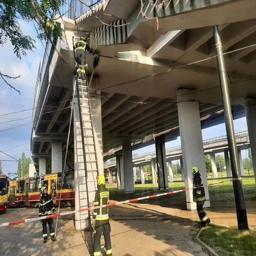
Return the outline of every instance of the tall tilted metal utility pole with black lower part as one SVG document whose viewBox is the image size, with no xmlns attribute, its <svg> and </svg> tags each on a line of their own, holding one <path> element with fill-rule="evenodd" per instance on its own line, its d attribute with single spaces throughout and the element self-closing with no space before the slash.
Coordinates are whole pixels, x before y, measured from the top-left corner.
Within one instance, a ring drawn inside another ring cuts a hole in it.
<svg viewBox="0 0 256 256">
<path fill-rule="evenodd" d="M 238 229 L 245 230 L 249 229 L 247 214 L 245 208 L 243 184 L 241 180 L 241 170 L 238 160 L 238 149 L 234 131 L 233 116 L 231 112 L 228 84 L 225 70 L 225 63 L 222 52 L 222 43 L 219 36 L 218 26 L 213 27 L 213 36 L 215 43 L 215 51 L 217 55 L 217 64 L 219 70 L 219 82 L 222 94 L 222 101 L 224 107 L 225 125 L 227 131 L 228 147 L 230 152 L 231 170 L 233 176 L 233 188 L 235 194 L 235 202 L 237 208 L 237 219 L 238 219 Z"/>
</svg>

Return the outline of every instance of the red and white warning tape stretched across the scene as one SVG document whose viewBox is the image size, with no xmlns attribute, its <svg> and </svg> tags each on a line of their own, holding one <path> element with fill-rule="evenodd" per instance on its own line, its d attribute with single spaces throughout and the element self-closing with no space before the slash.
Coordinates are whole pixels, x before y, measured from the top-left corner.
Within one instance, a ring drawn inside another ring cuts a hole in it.
<svg viewBox="0 0 256 256">
<path fill-rule="evenodd" d="M 172 195 L 172 194 L 176 194 L 176 193 L 180 193 L 180 192 L 186 192 L 190 189 L 196 189 L 196 188 L 207 187 L 207 186 L 208 187 L 209 186 L 216 186 L 216 185 L 219 185 L 221 183 L 232 182 L 234 180 L 237 180 L 237 179 L 228 180 L 228 181 L 219 182 L 219 183 L 213 183 L 213 184 L 209 184 L 209 185 L 205 185 L 205 186 L 199 186 L 199 187 L 193 187 L 193 188 L 184 188 L 184 189 L 174 190 L 174 191 L 165 192 L 165 193 L 161 193 L 161 194 L 156 194 L 156 195 L 151 195 L 151 196 L 146 196 L 146 197 L 139 197 L 139 198 L 135 198 L 135 199 L 129 199 L 129 200 L 125 200 L 125 201 L 113 202 L 113 203 L 108 203 L 108 204 L 104 204 L 104 205 L 101 205 L 101 206 L 88 207 L 88 208 L 84 208 L 84 209 L 79 209 L 78 211 L 73 210 L 73 211 L 53 214 L 53 215 L 49 215 L 49 216 L 42 216 L 42 217 L 31 218 L 31 219 L 23 219 L 23 220 L 13 221 L 13 222 L 4 222 L 4 223 L 0 223 L 0 227 L 14 226 L 14 225 L 33 222 L 33 221 L 37 221 L 37 220 L 41 220 L 41 219 L 54 219 L 54 218 L 57 218 L 57 217 L 70 215 L 70 214 L 74 214 L 74 213 L 78 213 L 78 212 L 92 211 L 94 209 L 99 209 L 99 208 L 104 208 L 104 207 L 113 207 L 113 206 L 116 206 L 118 204 L 123 204 L 123 203 L 128 203 L 128 202 L 136 202 L 136 201 L 141 201 L 141 200 L 145 200 L 145 199 L 157 198 L 157 197 Z"/>
</svg>

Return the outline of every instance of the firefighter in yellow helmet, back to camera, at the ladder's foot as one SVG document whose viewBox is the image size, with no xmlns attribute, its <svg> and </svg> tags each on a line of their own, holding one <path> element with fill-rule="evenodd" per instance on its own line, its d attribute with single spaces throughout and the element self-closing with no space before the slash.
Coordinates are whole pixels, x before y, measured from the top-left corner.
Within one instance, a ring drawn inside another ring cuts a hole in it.
<svg viewBox="0 0 256 256">
<path fill-rule="evenodd" d="M 95 194 L 94 206 L 108 204 L 110 201 L 110 192 L 106 188 L 105 177 L 103 174 L 97 178 L 98 190 Z M 100 252 L 100 238 L 104 235 L 105 248 L 107 256 L 112 256 L 111 240 L 110 240 L 110 221 L 109 221 L 109 207 L 93 210 L 93 227 L 94 227 L 94 254 L 93 256 L 101 256 Z"/>
</svg>

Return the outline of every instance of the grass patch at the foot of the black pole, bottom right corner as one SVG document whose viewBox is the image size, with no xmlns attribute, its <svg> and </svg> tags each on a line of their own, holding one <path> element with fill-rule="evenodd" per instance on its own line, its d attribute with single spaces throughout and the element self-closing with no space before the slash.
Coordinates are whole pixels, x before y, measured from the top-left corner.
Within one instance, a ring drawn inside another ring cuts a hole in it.
<svg viewBox="0 0 256 256">
<path fill-rule="evenodd" d="M 256 231 L 238 231 L 237 228 L 223 228 L 212 225 L 203 228 L 200 237 L 220 256 L 256 255 Z"/>
</svg>

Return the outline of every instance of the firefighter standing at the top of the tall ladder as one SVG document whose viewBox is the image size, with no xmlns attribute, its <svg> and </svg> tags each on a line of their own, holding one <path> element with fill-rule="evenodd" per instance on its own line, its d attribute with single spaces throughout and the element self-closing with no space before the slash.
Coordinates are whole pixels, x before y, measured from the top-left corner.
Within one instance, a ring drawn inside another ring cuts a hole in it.
<svg viewBox="0 0 256 256">
<path fill-rule="evenodd" d="M 79 41 L 73 45 L 73 48 L 75 49 L 74 59 L 77 64 L 77 78 L 85 80 L 85 67 L 87 67 L 86 51 L 92 54 L 93 49 L 88 45 L 88 38 L 86 37 L 80 37 Z"/>
</svg>

